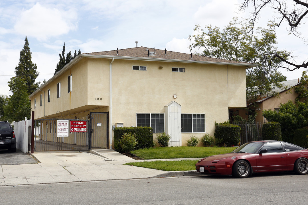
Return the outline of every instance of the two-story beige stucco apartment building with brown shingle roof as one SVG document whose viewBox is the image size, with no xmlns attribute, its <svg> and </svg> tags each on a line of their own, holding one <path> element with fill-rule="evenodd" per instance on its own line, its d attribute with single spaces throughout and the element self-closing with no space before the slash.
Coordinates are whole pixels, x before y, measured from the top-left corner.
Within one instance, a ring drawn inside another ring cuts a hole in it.
<svg viewBox="0 0 308 205">
<path fill-rule="evenodd" d="M 104 138 L 98 147 L 112 148 L 117 126 L 151 126 L 154 139 L 165 131 L 170 146 L 186 146 L 192 135 L 213 135 L 230 108 L 246 107 L 245 69 L 253 66 L 146 47 L 83 53 L 29 97 L 35 119 L 101 123 L 91 132 Z"/>
</svg>

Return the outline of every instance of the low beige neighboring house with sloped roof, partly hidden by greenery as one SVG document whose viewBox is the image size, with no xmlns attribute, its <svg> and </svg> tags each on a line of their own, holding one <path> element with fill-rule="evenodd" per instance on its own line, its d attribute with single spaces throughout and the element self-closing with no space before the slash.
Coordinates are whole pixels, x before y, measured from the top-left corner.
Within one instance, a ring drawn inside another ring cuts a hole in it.
<svg viewBox="0 0 308 205">
<path fill-rule="evenodd" d="M 292 100 L 292 102 L 295 103 L 295 98 L 298 96 L 298 94 L 295 93 L 295 86 L 300 84 L 299 81 L 299 78 L 289 81 L 282 81 L 280 83 L 288 87 L 287 89 L 280 89 L 276 87 L 272 88 L 272 90 L 275 93 L 279 93 L 279 95 L 264 94 L 259 96 L 254 103 L 247 103 L 249 114 L 256 112 L 256 122 L 266 123 L 266 118 L 262 116 L 263 110 L 276 110 L 278 112 L 281 103 L 287 103 L 288 100 Z M 240 115 L 244 119 L 248 119 L 247 109 L 238 108 L 231 109 L 231 111 L 235 112 L 234 114 Z"/>
</svg>

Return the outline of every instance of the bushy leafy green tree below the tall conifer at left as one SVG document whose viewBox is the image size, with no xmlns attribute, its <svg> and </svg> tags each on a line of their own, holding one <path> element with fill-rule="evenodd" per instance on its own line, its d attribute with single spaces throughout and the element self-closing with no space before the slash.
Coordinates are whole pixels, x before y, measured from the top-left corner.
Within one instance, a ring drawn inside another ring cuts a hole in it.
<svg viewBox="0 0 308 205">
<path fill-rule="evenodd" d="M 7 98 L 7 104 L 4 106 L 4 118 L 10 122 L 25 120 L 25 117 L 30 119 L 31 108 L 26 81 L 17 76 L 12 77 L 8 84 L 13 95 Z"/>
</svg>

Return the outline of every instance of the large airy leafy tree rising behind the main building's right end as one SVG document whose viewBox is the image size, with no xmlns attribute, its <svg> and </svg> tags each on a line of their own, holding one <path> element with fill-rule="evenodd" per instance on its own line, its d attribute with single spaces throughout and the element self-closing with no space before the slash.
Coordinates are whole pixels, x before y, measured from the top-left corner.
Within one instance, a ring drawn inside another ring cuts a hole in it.
<svg viewBox="0 0 308 205">
<path fill-rule="evenodd" d="M 276 67 L 282 63 L 279 59 L 267 59 L 265 53 L 276 52 L 289 55 L 287 51 L 280 51 L 275 46 L 275 27 L 268 24 L 267 28 L 256 28 L 253 34 L 250 32 L 252 24 L 248 21 L 238 21 L 233 18 L 223 30 L 211 25 L 201 29 L 196 25 L 194 31 L 197 34 L 190 35 L 192 44 L 190 51 L 194 48 L 201 50 L 197 55 L 216 57 L 231 61 L 242 61 L 256 64 L 256 67 L 246 69 L 247 96 L 256 96 L 271 92 L 271 84 L 282 88 L 279 83 L 285 81 L 286 77 L 276 71 Z"/>
</svg>

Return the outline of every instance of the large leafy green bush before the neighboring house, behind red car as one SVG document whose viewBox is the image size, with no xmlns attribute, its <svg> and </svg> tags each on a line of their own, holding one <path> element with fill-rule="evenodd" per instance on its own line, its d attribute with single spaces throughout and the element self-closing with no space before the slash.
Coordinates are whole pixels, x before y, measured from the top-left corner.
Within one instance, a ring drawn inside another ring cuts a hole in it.
<svg viewBox="0 0 308 205">
<path fill-rule="evenodd" d="M 308 103 L 289 100 L 280 104 L 279 112 L 263 110 L 262 114 L 269 122 L 279 122 L 282 131 L 282 140 L 292 142 L 294 130 L 308 126 Z"/>
</svg>

